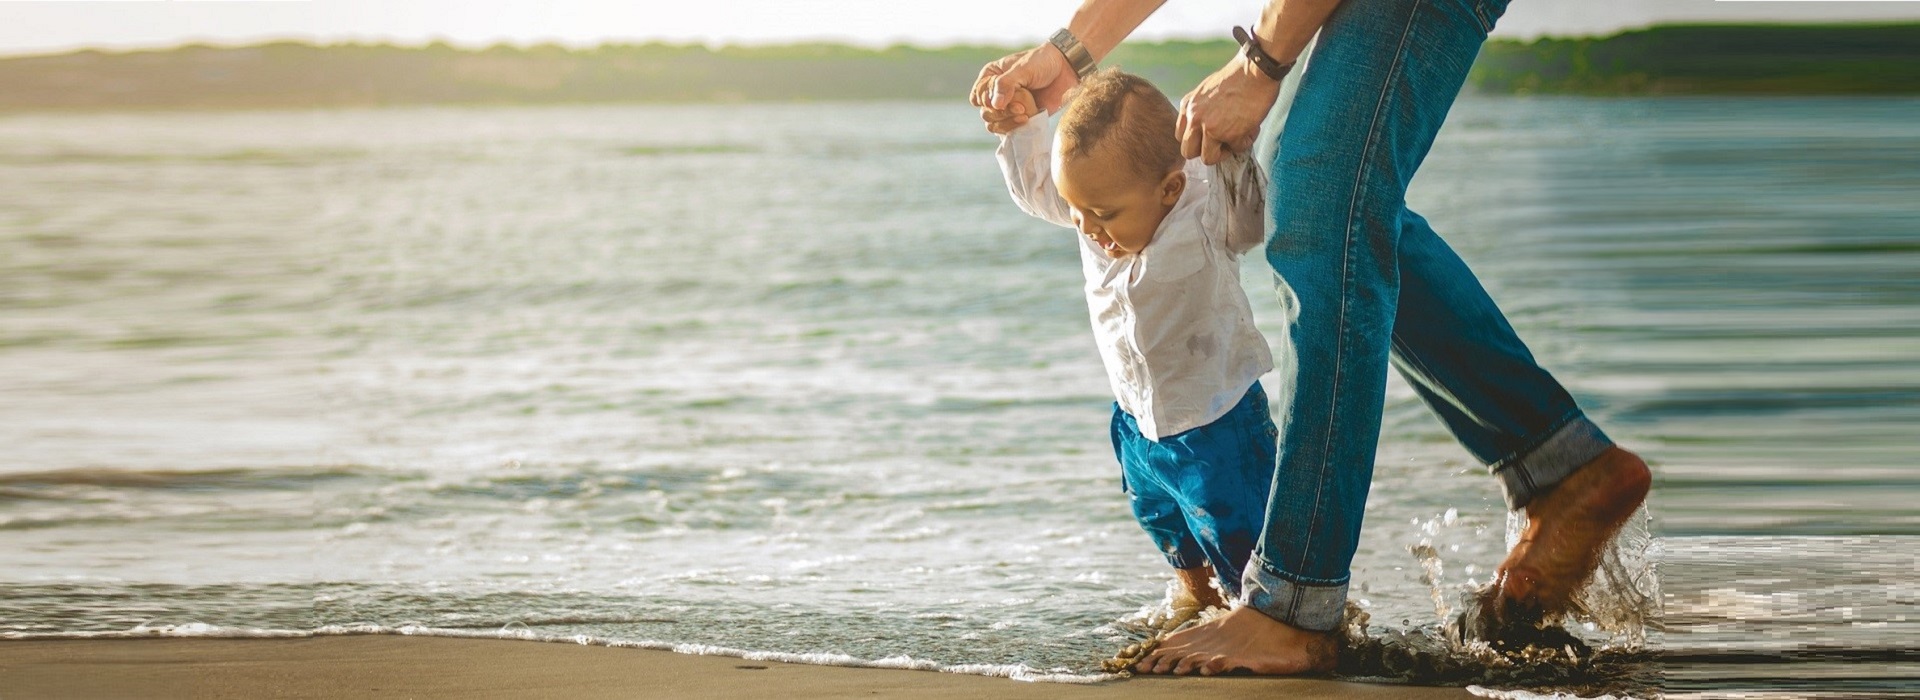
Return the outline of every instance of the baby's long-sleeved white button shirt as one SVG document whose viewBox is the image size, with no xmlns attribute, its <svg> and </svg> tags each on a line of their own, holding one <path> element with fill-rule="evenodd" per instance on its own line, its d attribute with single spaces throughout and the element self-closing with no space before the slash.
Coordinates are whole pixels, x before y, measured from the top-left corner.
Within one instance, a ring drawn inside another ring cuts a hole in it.
<svg viewBox="0 0 1920 700">
<path fill-rule="evenodd" d="M 1075 228 L 1054 188 L 1052 140 L 1035 119 L 1000 136 L 995 155 L 1021 211 Z M 1187 161 L 1187 190 L 1135 255 L 1073 238 L 1108 384 L 1148 439 L 1219 420 L 1273 368 L 1240 290 L 1240 255 L 1265 238 L 1265 178 L 1252 159 Z"/>
</svg>

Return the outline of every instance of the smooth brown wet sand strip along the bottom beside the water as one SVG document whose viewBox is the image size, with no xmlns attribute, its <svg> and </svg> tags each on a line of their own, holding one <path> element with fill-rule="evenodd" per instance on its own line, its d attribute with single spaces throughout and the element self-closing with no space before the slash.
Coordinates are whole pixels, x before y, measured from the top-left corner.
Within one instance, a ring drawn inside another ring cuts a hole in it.
<svg viewBox="0 0 1920 700">
<path fill-rule="evenodd" d="M 1319 679 L 1098 685 L 444 637 L 0 641 L 0 698 L 1471 698 Z"/>
</svg>

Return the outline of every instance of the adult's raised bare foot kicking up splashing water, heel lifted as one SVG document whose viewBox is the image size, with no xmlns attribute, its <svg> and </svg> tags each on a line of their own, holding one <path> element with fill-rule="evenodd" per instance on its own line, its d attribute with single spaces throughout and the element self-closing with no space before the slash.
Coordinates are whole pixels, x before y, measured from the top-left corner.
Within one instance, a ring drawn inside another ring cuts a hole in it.
<svg viewBox="0 0 1920 700">
<path fill-rule="evenodd" d="M 1567 612 L 1594 575 L 1599 552 L 1647 501 L 1653 472 L 1638 455 L 1609 447 L 1526 504 L 1526 531 L 1494 573 L 1494 614 L 1542 619 Z"/>
</svg>

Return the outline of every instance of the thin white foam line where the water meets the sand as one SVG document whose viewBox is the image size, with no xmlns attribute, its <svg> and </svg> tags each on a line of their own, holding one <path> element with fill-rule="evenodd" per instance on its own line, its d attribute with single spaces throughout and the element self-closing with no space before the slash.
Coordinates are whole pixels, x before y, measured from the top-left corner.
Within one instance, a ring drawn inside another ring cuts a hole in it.
<svg viewBox="0 0 1920 700">
<path fill-rule="evenodd" d="M 324 625 L 315 629 L 253 629 L 253 627 L 223 627 L 207 623 L 180 623 L 180 625 L 136 625 L 123 631 L 67 631 L 67 633 L 0 633 L 0 639 L 150 639 L 150 637 L 204 637 L 204 639 L 303 639 L 303 637 L 349 637 L 349 635 L 407 635 L 407 637 L 455 637 L 455 639 L 516 639 L 530 642 L 570 642 L 586 646 L 611 646 L 611 648 L 649 648 L 674 654 L 691 656 L 730 656 L 747 662 L 778 662 L 778 664 L 808 664 L 808 665 L 845 665 L 845 667 L 870 667 L 870 669 L 906 669 L 906 671 L 939 671 L 939 673 L 960 673 L 960 675 L 987 675 L 996 679 L 1012 681 L 1033 681 L 1033 683 L 1102 683 L 1117 679 L 1112 673 L 1073 673 L 1064 667 L 1056 669 L 1035 669 L 1025 664 L 939 664 L 929 660 L 918 660 L 904 654 L 885 656 L 877 660 L 862 660 L 847 654 L 822 654 L 822 652 L 758 652 L 747 648 L 730 648 L 714 644 L 685 644 L 685 642 L 662 642 L 662 641 L 626 641 L 626 639 L 603 639 L 591 635 L 540 635 L 534 629 L 511 623 L 501 629 L 442 629 L 424 625 Z"/>
</svg>

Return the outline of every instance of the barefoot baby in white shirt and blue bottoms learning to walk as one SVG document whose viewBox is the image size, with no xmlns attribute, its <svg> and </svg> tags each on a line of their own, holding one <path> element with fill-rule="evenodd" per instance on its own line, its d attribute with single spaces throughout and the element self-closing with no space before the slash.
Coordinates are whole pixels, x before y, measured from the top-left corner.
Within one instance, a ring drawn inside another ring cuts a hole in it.
<svg viewBox="0 0 1920 700">
<path fill-rule="evenodd" d="M 1035 115 L 1031 94 L 1018 102 Z M 1221 606 L 1261 533 L 1279 437 L 1260 387 L 1273 355 L 1240 290 L 1240 255 L 1265 238 L 1265 176 L 1244 153 L 1181 157 L 1173 104 L 1117 69 L 1068 94 L 1058 142 L 1046 119 L 983 117 L 1014 203 L 1079 230 L 1133 514 L 1192 602 Z"/>
</svg>

